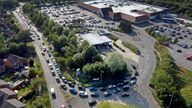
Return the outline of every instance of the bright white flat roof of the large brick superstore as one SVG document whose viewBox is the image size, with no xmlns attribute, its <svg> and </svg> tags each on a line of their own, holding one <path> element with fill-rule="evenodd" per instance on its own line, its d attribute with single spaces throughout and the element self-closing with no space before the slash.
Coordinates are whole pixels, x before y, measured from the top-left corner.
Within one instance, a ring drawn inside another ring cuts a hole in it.
<svg viewBox="0 0 192 108">
<path fill-rule="evenodd" d="M 91 6 L 97 7 L 97 8 L 106 8 L 106 7 L 112 7 L 112 10 L 114 13 L 125 13 L 132 16 L 142 16 L 144 14 L 132 12 L 132 10 L 140 10 L 148 13 L 156 13 L 161 12 L 165 8 L 148 5 L 148 4 L 142 4 L 142 3 L 136 3 L 136 2 L 115 2 L 112 0 L 93 0 L 93 1 L 87 1 L 84 2 L 85 4 L 89 4 Z"/>
</svg>

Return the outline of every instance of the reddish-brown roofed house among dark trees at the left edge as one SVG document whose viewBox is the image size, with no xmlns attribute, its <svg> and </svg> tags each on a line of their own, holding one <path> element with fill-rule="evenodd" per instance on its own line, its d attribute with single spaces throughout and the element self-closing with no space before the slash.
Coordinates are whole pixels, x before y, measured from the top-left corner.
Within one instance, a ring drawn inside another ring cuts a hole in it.
<svg viewBox="0 0 192 108">
<path fill-rule="evenodd" d="M 13 54 L 9 54 L 9 57 L 4 59 L 4 63 L 6 68 L 15 70 L 28 65 L 28 61 L 25 58 Z"/>
</svg>

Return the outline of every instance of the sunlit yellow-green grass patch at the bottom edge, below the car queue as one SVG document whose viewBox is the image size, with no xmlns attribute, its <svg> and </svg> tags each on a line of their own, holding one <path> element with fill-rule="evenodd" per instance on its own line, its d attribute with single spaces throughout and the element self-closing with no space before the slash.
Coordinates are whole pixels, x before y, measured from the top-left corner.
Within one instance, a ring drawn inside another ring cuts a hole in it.
<svg viewBox="0 0 192 108">
<path fill-rule="evenodd" d="M 133 108 L 133 107 L 130 105 L 103 101 L 100 102 L 96 108 Z"/>
</svg>

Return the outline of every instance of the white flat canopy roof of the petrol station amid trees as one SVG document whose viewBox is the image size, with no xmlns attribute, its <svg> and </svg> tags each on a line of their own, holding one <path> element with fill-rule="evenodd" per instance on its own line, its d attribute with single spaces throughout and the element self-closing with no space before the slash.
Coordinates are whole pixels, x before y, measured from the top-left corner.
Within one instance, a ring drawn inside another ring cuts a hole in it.
<svg viewBox="0 0 192 108">
<path fill-rule="evenodd" d="M 80 35 L 84 40 L 87 40 L 90 45 L 98 45 L 103 43 L 109 43 L 112 42 L 111 39 L 109 39 L 106 36 L 99 36 L 97 33 L 87 33 Z"/>
</svg>

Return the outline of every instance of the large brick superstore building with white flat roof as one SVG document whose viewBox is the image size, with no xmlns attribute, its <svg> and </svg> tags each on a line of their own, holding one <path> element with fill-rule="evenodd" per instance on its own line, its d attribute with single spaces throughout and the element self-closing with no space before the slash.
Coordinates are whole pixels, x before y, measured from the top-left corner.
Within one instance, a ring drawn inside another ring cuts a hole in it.
<svg viewBox="0 0 192 108">
<path fill-rule="evenodd" d="M 112 20 L 127 20 L 134 24 L 147 22 L 150 19 L 160 17 L 167 9 L 141 4 L 136 2 L 115 2 L 115 1 L 86 1 L 78 2 L 78 6 L 91 11 L 103 18 Z"/>
</svg>

